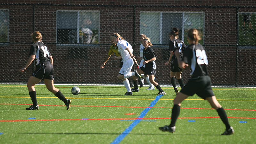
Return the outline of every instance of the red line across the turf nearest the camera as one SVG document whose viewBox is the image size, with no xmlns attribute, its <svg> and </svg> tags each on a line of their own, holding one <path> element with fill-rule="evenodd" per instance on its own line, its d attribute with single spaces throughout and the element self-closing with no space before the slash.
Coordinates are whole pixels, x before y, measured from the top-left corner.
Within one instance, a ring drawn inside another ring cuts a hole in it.
<svg viewBox="0 0 256 144">
<path fill-rule="evenodd" d="M 214 117 L 178 117 L 178 119 L 199 119 L 199 118 L 220 118 Z M 236 119 L 256 119 L 255 117 L 228 117 Z M 171 119 L 170 117 L 155 117 L 155 118 L 82 118 L 82 119 L 26 119 L 26 120 L 0 120 L 0 122 L 28 122 L 28 121 L 77 121 L 77 120 L 143 120 L 143 119 Z"/>
</svg>

